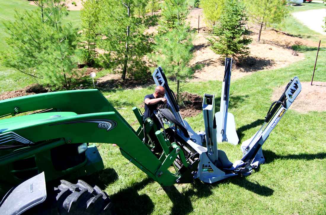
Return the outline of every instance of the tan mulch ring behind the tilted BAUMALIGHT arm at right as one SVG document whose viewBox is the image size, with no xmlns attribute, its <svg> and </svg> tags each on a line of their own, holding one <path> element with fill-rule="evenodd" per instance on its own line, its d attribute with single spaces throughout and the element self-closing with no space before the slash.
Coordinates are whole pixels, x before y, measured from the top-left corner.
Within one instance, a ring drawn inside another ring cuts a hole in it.
<svg viewBox="0 0 326 215">
<path fill-rule="evenodd" d="M 309 111 L 326 111 L 326 82 L 301 82 L 302 91 L 292 103 L 289 109 L 296 110 L 300 113 Z M 285 86 L 274 90 L 272 100 L 276 101 L 283 94 Z"/>
</svg>

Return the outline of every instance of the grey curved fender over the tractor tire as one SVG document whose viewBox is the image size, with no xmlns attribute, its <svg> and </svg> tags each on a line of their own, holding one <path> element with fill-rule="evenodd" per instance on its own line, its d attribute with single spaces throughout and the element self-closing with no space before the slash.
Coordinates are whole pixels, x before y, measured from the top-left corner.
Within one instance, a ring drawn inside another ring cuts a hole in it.
<svg viewBox="0 0 326 215">
<path fill-rule="evenodd" d="M 0 202 L 0 214 L 19 215 L 45 199 L 45 175 L 42 172 L 9 190 Z"/>
</svg>

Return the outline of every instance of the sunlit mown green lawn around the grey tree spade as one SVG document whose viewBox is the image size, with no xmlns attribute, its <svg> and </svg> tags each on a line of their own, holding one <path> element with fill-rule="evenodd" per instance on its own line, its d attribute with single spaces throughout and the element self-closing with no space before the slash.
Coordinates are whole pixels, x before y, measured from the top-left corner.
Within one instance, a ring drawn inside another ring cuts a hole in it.
<svg viewBox="0 0 326 215">
<path fill-rule="evenodd" d="M 297 47 L 297 50 L 305 49 Z M 260 71 L 231 82 L 229 112 L 234 114 L 240 143 L 259 129 L 272 103 L 273 89 L 284 86 L 294 76 L 301 82 L 311 80 L 316 51 L 304 53 L 305 60 L 287 68 Z M 314 80 L 325 82 L 325 50 L 319 52 L 319 59 L 319 72 Z M 170 85 L 175 88 L 173 83 Z M 119 112 L 131 124 L 136 120 L 131 108 L 140 107 L 144 95 L 153 90 L 154 85 L 103 94 L 114 107 L 127 108 Z M 200 95 L 215 94 L 219 103 L 221 82 L 188 83 L 184 90 Z M 195 131 L 204 130 L 201 114 L 185 120 Z M 97 144 L 106 169 L 91 179 L 105 188 L 118 214 L 322 215 L 326 213 L 325 122 L 326 112 L 300 114 L 290 109 L 263 145 L 266 164 L 248 177 L 162 188 L 123 158 L 118 147 Z M 232 162 L 242 157 L 240 144 L 222 143 L 219 149 Z"/>
</svg>

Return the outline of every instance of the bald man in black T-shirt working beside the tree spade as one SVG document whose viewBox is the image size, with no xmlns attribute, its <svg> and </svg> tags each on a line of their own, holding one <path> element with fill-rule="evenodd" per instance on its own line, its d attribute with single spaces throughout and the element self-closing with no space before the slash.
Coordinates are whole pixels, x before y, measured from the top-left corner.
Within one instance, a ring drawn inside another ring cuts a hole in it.
<svg viewBox="0 0 326 215">
<path fill-rule="evenodd" d="M 151 118 L 155 122 L 157 129 L 162 128 L 162 126 L 157 120 L 156 116 L 154 115 L 154 110 L 157 109 L 158 105 L 167 103 L 166 98 L 164 98 L 164 94 L 165 94 L 164 87 L 157 86 L 153 94 L 145 95 L 144 98 L 144 103 L 145 103 L 144 117 L 145 119 Z"/>
</svg>

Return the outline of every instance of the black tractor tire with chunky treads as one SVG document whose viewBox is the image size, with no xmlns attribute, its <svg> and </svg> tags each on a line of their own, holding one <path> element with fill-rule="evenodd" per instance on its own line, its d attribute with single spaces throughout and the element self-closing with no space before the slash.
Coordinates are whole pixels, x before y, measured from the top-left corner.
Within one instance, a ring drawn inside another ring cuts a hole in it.
<svg viewBox="0 0 326 215">
<path fill-rule="evenodd" d="M 78 180 L 73 184 L 60 181 L 58 187 L 47 189 L 46 200 L 27 210 L 23 215 L 113 215 L 113 207 L 108 195 L 98 186 Z"/>
</svg>

